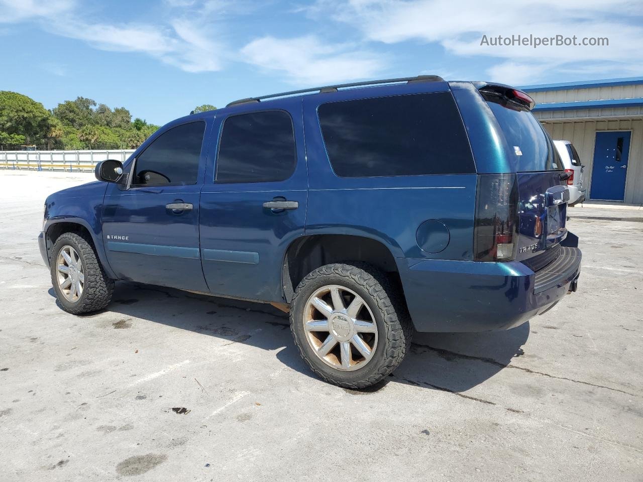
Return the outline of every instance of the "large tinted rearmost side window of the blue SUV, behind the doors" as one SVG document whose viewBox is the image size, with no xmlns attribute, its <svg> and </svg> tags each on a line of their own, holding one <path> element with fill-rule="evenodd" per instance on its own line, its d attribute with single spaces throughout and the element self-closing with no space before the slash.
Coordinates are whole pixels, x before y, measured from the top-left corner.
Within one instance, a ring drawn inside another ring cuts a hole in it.
<svg viewBox="0 0 643 482">
<path fill-rule="evenodd" d="M 329 102 L 318 114 L 332 169 L 340 177 L 475 172 L 451 93 Z"/>
</svg>

